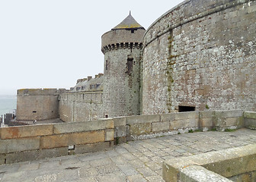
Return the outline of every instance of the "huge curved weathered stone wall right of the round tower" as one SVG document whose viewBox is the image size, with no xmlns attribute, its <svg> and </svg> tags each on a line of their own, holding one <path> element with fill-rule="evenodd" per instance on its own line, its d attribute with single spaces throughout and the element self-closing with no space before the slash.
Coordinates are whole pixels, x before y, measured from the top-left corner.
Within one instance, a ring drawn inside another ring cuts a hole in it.
<svg viewBox="0 0 256 182">
<path fill-rule="evenodd" d="M 255 19 L 248 0 L 188 0 L 159 17 L 144 36 L 142 114 L 255 111 Z"/>
</svg>

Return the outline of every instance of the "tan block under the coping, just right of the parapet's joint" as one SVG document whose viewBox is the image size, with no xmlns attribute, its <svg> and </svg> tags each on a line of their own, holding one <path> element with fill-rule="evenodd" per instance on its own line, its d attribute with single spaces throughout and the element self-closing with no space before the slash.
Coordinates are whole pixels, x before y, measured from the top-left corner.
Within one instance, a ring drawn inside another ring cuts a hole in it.
<svg viewBox="0 0 256 182">
<path fill-rule="evenodd" d="M 131 124 L 130 125 L 130 135 L 139 136 L 152 133 L 151 123 L 142 124 Z"/>
</svg>

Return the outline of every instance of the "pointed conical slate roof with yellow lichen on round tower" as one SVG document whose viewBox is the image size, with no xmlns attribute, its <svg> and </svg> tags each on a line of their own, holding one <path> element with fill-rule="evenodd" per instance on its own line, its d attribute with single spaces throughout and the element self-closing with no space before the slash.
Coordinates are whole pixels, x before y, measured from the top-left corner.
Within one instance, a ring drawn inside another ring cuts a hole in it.
<svg viewBox="0 0 256 182">
<path fill-rule="evenodd" d="M 133 18 L 133 16 L 130 13 L 128 17 L 126 17 L 120 24 L 118 24 L 112 30 L 120 30 L 120 29 L 138 30 L 138 29 L 144 29 L 144 27 L 138 24 L 138 22 Z"/>
</svg>

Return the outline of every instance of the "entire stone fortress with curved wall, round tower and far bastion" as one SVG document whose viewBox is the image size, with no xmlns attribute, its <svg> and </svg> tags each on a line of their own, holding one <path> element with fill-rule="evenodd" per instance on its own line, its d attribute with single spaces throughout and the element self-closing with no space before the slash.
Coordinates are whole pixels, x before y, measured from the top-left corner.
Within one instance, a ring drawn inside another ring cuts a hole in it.
<svg viewBox="0 0 256 182">
<path fill-rule="evenodd" d="M 17 119 L 256 111 L 255 20 L 255 0 L 187 0 L 146 33 L 129 15 L 101 38 L 104 75 L 66 93 L 18 90 Z M 137 27 L 123 26 L 131 21 Z"/>
</svg>

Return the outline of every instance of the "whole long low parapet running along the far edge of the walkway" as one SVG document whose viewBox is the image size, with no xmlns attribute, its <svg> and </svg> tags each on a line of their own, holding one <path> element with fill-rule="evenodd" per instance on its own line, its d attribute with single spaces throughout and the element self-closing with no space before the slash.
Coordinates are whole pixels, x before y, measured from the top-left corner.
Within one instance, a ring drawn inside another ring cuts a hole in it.
<svg viewBox="0 0 256 182">
<path fill-rule="evenodd" d="M 253 115 L 252 115 L 253 114 Z M 106 118 L 97 121 L 0 128 L 0 164 L 72 153 L 94 152 L 114 143 L 194 130 L 253 126 L 254 114 L 243 111 L 191 111 L 162 115 Z M 250 127 L 249 127 L 250 128 Z"/>
</svg>

